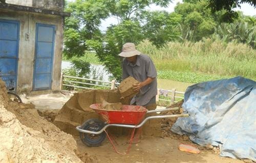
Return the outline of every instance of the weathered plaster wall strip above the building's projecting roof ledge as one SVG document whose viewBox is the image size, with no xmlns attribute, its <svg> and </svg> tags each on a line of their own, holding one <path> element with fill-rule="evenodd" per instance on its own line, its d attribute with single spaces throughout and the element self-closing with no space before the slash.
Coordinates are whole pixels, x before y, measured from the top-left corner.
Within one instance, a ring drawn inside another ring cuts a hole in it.
<svg viewBox="0 0 256 163">
<path fill-rule="evenodd" d="M 6 0 L 6 3 L 56 11 L 63 11 L 65 4 L 64 0 Z"/>
</svg>

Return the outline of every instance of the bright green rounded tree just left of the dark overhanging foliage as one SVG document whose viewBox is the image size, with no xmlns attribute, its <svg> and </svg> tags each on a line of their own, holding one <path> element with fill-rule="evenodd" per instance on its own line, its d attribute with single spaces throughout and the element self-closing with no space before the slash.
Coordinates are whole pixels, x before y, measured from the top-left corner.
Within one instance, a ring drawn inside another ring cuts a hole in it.
<svg viewBox="0 0 256 163">
<path fill-rule="evenodd" d="M 179 25 L 181 41 L 199 41 L 214 33 L 223 12 L 211 13 L 208 5 L 206 0 L 187 0 L 175 7 L 175 13 L 182 17 Z"/>
</svg>

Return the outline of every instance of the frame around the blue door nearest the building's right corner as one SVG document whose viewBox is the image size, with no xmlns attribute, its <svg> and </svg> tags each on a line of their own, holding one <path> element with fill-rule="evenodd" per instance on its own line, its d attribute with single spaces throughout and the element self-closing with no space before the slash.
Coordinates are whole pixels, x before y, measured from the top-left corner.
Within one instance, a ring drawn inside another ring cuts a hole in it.
<svg viewBox="0 0 256 163">
<path fill-rule="evenodd" d="M 52 56 L 51 56 L 51 76 L 50 76 L 50 87 L 47 88 L 39 88 L 35 89 L 35 68 L 36 68 L 36 52 L 37 52 L 37 40 L 38 40 L 38 27 L 39 26 L 46 26 L 46 27 L 51 27 L 53 28 L 53 45 L 52 45 Z M 35 30 L 35 52 L 34 52 L 34 71 L 33 71 L 33 86 L 32 90 L 33 91 L 41 91 L 41 90 L 51 90 L 52 89 L 52 74 L 53 74 L 53 59 L 54 59 L 54 46 L 55 46 L 55 30 L 56 30 L 56 25 L 54 24 L 45 24 L 45 23 L 36 23 L 36 30 Z"/>
</svg>

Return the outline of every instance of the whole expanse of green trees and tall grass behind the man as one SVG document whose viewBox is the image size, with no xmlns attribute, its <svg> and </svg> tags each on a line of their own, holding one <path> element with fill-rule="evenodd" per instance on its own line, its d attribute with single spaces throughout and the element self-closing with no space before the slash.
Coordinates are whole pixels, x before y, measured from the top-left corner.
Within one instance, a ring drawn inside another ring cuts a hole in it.
<svg viewBox="0 0 256 163">
<path fill-rule="evenodd" d="M 189 83 L 237 75 L 255 79 L 256 18 L 232 11 L 243 2 L 255 6 L 254 1 L 184 0 L 172 13 L 146 10 L 170 2 L 68 3 L 66 11 L 71 17 L 65 20 L 65 58 L 72 58 L 79 76 L 88 75 L 90 62 L 105 65 L 120 81 L 121 58 L 117 55 L 125 42 L 134 42 L 151 56 L 161 78 Z M 118 24 L 100 31 L 101 21 L 109 17 L 116 17 Z M 88 51 L 95 51 L 96 57 Z"/>
</svg>

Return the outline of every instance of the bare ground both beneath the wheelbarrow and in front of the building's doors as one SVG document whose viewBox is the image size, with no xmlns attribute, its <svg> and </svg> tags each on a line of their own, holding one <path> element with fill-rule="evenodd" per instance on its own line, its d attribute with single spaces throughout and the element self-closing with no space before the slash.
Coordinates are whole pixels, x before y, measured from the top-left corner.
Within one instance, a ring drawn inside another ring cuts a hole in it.
<svg viewBox="0 0 256 163">
<path fill-rule="evenodd" d="M 50 122 L 57 114 L 57 107 L 61 108 L 62 105 L 69 99 L 70 95 L 63 94 L 50 94 L 50 95 L 40 95 L 33 97 L 22 97 L 25 102 L 32 102 L 35 104 L 35 107 L 44 113 L 45 116 Z M 52 111 L 55 110 L 55 111 Z M 39 112 L 40 115 L 40 112 Z M 165 136 L 168 134 L 165 134 Z M 75 136 L 77 141 L 78 149 L 82 153 L 88 153 L 93 159 L 94 162 L 172 162 L 172 163 L 203 163 L 203 162 L 220 162 L 220 163 L 236 163 L 243 162 L 238 159 L 220 157 L 218 154 L 215 154 L 212 150 L 206 150 L 204 147 L 198 147 L 201 150 L 200 154 L 191 154 L 187 152 L 182 152 L 178 150 L 178 145 L 180 143 L 184 144 L 193 144 L 189 141 L 184 141 L 183 139 L 179 140 L 178 138 L 170 137 L 146 137 L 144 136 L 140 143 L 133 144 L 131 151 L 126 155 L 119 155 L 114 152 L 111 144 L 106 139 L 102 146 L 100 147 L 87 147 L 84 145 L 79 137 Z M 117 148 L 123 152 L 127 148 L 127 137 L 119 136 L 116 137 L 118 142 Z"/>
</svg>

